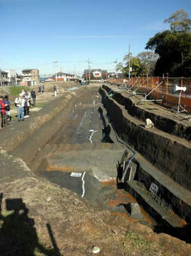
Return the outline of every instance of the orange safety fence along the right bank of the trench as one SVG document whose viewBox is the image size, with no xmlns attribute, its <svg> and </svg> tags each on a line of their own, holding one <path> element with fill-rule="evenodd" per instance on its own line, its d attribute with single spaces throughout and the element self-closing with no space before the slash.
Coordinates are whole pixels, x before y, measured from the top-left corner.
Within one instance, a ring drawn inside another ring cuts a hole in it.
<svg viewBox="0 0 191 256">
<path fill-rule="evenodd" d="M 180 104 L 187 111 L 191 112 L 191 78 L 168 78 L 168 77 L 136 77 L 109 79 L 109 83 L 122 86 L 124 89 L 149 94 L 152 89 L 160 84 L 149 97 L 152 99 L 163 99 L 163 105 L 174 108 L 179 102 L 179 92 L 176 86 L 186 87 L 181 91 Z"/>
</svg>

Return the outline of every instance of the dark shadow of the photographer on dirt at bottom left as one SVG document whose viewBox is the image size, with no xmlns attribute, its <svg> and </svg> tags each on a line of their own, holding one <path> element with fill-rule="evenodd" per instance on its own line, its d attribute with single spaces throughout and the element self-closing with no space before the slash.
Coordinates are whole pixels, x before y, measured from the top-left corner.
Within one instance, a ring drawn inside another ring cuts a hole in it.
<svg viewBox="0 0 191 256">
<path fill-rule="evenodd" d="M 6 209 L 2 210 L 3 194 L 0 194 L 0 255 L 2 256 L 37 256 L 41 253 L 47 256 L 58 255 L 58 246 L 52 234 L 50 224 L 47 232 L 52 242 L 52 249 L 46 249 L 39 244 L 34 227 L 34 219 L 28 217 L 28 208 L 22 198 L 6 199 Z"/>
</svg>

